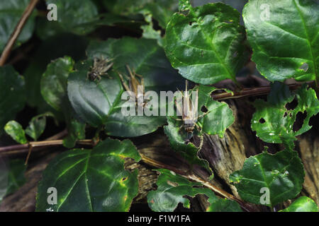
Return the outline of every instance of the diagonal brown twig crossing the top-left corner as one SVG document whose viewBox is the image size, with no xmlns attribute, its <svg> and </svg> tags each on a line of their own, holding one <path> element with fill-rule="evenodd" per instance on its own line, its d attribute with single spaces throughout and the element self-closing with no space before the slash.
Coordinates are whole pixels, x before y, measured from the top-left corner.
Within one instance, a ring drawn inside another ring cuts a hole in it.
<svg viewBox="0 0 319 226">
<path fill-rule="evenodd" d="M 26 21 L 28 20 L 30 14 L 33 11 L 33 8 L 35 8 L 35 5 L 38 3 L 38 1 L 39 0 L 30 0 L 30 3 L 24 10 L 18 24 L 16 25 L 16 28 L 14 28 L 13 33 L 11 34 L 11 37 L 6 43 L 6 47 L 4 47 L 4 52 L 2 52 L 0 57 L 0 66 L 4 66 L 4 64 L 6 63 L 6 59 L 8 59 L 9 57 L 13 44 L 16 42 L 16 39 L 20 35 L 24 25 L 26 24 Z"/>
</svg>

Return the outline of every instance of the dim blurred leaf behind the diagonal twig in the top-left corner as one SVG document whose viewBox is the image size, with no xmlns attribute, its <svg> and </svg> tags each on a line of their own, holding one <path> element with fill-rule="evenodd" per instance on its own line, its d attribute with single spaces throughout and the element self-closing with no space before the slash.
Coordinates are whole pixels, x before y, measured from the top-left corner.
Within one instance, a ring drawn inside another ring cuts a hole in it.
<svg viewBox="0 0 319 226">
<path fill-rule="evenodd" d="M 18 24 L 23 11 L 29 4 L 29 0 L 11 0 L 11 1 L 1 1 L 0 3 L 0 52 L 4 50 L 6 42 L 8 42 L 14 28 Z M 35 13 L 32 13 L 26 25 L 18 36 L 16 45 L 20 45 L 30 39 L 33 34 L 33 29 L 35 27 Z"/>
</svg>

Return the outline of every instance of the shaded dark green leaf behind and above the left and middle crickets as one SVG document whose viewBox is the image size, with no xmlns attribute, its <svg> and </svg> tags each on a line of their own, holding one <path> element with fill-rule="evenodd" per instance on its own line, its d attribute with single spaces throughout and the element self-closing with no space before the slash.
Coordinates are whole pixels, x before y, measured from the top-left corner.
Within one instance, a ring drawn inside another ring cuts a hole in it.
<svg viewBox="0 0 319 226">
<path fill-rule="evenodd" d="M 86 50 L 89 58 L 113 59 L 113 69 L 128 74 L 125 65 L 130 66 L 144 78 L 145 92 L 175 91 L 184 87 L 184 80 L 172 68 L 156 40 L 145 38 L 108 39 L 106 42 L 91 42 Z"/>
</svg>

